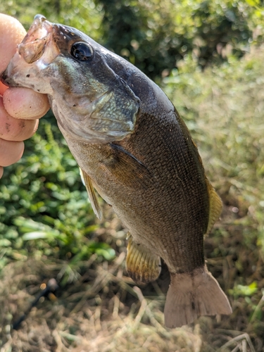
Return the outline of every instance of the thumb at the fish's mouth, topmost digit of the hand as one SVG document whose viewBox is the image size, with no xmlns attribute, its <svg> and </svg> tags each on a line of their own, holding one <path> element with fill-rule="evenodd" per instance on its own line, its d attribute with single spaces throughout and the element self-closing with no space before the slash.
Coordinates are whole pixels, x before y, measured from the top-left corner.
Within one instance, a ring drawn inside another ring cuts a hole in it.
<svg viewBox="0 0 264 352">
<path fill-rule="evenodd" d="M 16 46 L 25 37 L 23 25 L 15 18 L 0 13 L 0 73 L 15 54 Z"/>
</svg>

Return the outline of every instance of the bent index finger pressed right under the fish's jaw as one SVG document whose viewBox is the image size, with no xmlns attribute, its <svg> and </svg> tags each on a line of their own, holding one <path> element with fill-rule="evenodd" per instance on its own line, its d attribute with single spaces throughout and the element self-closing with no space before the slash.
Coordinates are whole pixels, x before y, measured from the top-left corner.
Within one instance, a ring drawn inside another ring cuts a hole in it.
<svg viewBox="0 0 264 352">
<path fill-rule="evenodd" d="M 6 111 L 14 118 L 25 120 L 41 118 L 49 111 L 49 100 L 46 94 L 39 94 L 29 88 L 6 89 L 3 102 Z"/>
</svg>

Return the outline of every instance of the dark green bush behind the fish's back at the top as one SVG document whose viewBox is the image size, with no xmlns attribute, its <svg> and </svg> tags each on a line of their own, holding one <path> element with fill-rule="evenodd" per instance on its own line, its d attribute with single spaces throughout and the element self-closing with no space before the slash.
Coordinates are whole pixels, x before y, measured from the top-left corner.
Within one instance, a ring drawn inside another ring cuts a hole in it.
<svg viewBox="0 0 264 352">
<path fill-rule="evenodd" d="M 253 37 L 263 34 L 262 12 L 238 0 L 97 0 L 97 4 L 103 4 L 106 46 L 152 79 L 168 75 L 188 54 L 202 67 L 231 54 L 242 56 Z"/>
</svg>

